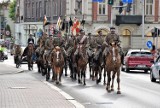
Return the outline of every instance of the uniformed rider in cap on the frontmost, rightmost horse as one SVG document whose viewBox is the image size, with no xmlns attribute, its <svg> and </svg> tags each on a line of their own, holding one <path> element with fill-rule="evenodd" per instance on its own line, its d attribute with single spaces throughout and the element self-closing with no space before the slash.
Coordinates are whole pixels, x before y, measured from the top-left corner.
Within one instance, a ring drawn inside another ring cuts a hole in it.
<svg viewBox="0 0 160 108">
<path fill-rule="evenodd" d="M 109 45 L 110 45 L 111 41 L 115 41 L 118 44 L 120 55 L 123 53 L 123 51 L 120 47 L 120 42 L 121 41 L 120 41 L 119 35 L 115 33 L 115 27 L 111 27 L 110 28 L 110 33 L 107 34 L 107 36 L 105 37 L 105 40 L 104 40 L 105 49 L 103 51 L 103 60 L 105 60 L 105 57 L 109 52 Z"/>
</svg>

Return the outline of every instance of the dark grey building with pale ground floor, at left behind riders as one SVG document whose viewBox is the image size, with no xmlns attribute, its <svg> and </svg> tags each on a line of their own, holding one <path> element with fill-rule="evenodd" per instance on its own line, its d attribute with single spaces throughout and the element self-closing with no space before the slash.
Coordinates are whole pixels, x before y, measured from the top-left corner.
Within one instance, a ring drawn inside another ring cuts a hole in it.
<svg viewBox="0 0 160 108">
<path fill-rule="evenodd" d="M 36 41 L 41 31 L 49 34 L 50 26 L 43 27 L 44 16 L 48 22 L 56 25 L 58 18 L 65 16 L 65 9 L 66 0 L 17 0 L 16 43 L 26 46 L 29 34 Z"/>
</svg>

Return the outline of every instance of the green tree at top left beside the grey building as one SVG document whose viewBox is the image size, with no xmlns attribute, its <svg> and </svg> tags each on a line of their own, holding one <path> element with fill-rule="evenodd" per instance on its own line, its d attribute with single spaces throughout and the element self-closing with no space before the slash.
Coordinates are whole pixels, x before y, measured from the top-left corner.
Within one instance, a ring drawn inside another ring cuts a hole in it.
<svg viewBox="0 0 160 108">
<path fill-rule="evenodd" d="M 9 5 L 9 17 L 15 21 L 16 20 L 16 0 Z"/>
</svg>

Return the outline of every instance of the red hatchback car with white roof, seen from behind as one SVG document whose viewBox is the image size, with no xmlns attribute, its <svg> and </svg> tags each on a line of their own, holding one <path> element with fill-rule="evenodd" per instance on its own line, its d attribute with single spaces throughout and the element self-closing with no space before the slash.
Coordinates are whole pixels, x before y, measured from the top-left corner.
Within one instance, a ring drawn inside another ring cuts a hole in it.
<svg viewBox="0 0 160 108">
<path fill-rule="evenodd" d="M 144 70 L 146 73 L 152 66 L 153 55 L 149 50 L 130 49 L 128 50 L 122 61 L 122 71 L 129 72 L 130 70 Z"/>
</svg>

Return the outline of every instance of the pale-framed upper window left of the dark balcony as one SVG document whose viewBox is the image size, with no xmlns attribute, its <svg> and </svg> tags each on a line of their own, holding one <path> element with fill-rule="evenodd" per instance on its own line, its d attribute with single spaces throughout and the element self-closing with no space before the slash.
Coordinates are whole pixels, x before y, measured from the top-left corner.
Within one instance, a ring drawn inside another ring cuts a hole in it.
<svg viewBox="0 0 160 108">
<path fill-rule="evenodd" d="M 99 15 L 106 15 L 107 14 L 107 0 L 103 0 L 98 5 L 98 14 Z"/>
</svg>

